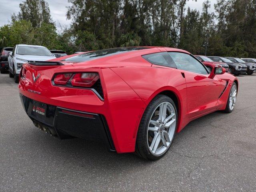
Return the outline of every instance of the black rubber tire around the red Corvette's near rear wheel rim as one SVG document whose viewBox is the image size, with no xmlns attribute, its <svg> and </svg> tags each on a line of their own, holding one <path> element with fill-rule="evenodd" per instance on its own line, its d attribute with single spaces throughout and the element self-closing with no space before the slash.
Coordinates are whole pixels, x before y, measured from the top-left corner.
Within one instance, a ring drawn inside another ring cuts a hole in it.
<svg viewBox="0 0 256 192">
<path fill-rule="evenodd" d="M 177 113 L 176 105 L 170 97 L 165 96 L 165 95 L 157 95 L 148 104 L 148 106 L 141 118 L 141 121 L 140 121 L 140 126 L 138 128 L 138 133 L 137 133 L 137 138 L 136 138 L 136 147 L 135 147 L 135 154 L 141 158 L 146 159 L 146 160 L 158 160 L 158 159 L 162 158 L 168 152 L 168 150 L 170 150 L 170 146 L 172 145 L 173 138 L 175 136 L 175 132 L 177 129 L 177 123 L 176 123 L 174 136 L 173 136 L 173 138 L 170 142 L 170 146 L 168 147 L 166 152 L 164 152 L 164 154 L 162 154 L 160 156 L 154 156 L 148 148 L 148 138 L 147 138 L 148 124 L 149 124 L 150 118 L 151 118 L 152 113 L 154 112 L 155 108 L 162 102 L 170 102 L 170 104 L 173 105 L 175 113 L 176 113 L 176 122 L 178 122 L 178 113 Z"/>
</svg>

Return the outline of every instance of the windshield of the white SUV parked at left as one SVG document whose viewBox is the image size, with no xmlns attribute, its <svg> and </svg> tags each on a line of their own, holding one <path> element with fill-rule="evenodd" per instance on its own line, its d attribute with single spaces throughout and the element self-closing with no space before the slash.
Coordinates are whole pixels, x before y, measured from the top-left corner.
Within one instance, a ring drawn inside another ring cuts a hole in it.
<svg viewBox="0 0 256 192">
<path fill-rule="evenodd" d="M 19 55 L 38 55 L 52 56 L 51 52 L 45 47 L 18 46 L 17 54 Z"/>
</svg>

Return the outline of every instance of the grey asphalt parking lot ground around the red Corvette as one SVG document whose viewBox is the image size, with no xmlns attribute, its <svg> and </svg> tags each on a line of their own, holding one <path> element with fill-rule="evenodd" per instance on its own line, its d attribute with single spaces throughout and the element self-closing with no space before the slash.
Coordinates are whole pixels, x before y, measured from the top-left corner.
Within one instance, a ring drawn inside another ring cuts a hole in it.
<svg viewBox="0 0 256 192">
<path fill-rule="evenodd" d="M 256 191 L 256 74 L 238 79 L 231 114 L 194 120 L 164 158 L 148 162 L 45 134 L 13 78 L 0 74 L 0 191 Z"/>
</svg>

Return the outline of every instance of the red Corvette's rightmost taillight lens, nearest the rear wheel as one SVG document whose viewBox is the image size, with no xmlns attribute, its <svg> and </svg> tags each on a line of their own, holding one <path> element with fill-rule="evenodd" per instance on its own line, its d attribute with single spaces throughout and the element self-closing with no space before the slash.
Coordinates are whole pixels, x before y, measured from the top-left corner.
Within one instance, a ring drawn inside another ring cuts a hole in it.
<svg viewBox="0 0 256 192">
<path fill-rule="evenodd" d="M 71 80 L 72 86 L 91 87 L 99 79 L 97 73 L 77 73 Z"/>
</svg>

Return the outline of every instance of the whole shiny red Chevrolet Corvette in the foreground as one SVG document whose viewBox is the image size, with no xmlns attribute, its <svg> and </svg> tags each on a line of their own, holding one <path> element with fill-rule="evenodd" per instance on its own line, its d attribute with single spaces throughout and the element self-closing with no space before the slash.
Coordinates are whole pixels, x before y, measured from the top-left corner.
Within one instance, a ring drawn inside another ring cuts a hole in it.
<svg viewBox="0 0 256 192">
<path fill-rule="evenodd" d="M 28 62 L 20 98 L 38 128 L 65 138 L 103 141 L 118 153 L 157 160 L 188 122 L 232 112 L 238 80 L 192 54 L 167 47 L 97 50 Z"/>
</svg>

